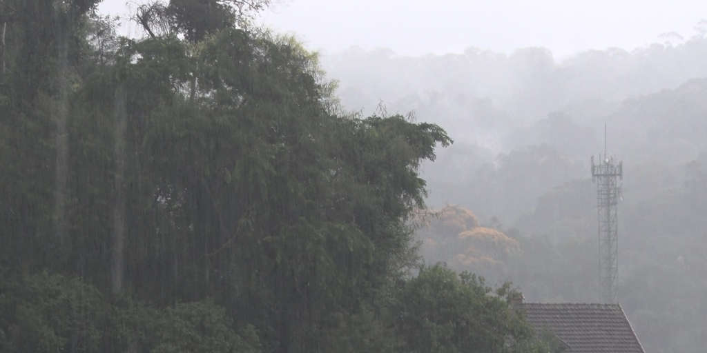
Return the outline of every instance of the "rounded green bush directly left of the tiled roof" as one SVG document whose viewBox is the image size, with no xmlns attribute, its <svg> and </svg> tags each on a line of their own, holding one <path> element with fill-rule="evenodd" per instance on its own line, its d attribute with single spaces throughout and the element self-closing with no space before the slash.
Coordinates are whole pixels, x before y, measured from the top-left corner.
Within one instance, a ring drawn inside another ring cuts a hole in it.
<svg viewBox="0 0 707 353">
<path fill-rule="evenodd" d="M 483 277 L 442 265 L 420 268 L 393 309 L 401 352 L 542 352 L 542 342 L 508 306 L 505 296 L 512 294 L 506 285 L 492 295 Z"/>
</svg>

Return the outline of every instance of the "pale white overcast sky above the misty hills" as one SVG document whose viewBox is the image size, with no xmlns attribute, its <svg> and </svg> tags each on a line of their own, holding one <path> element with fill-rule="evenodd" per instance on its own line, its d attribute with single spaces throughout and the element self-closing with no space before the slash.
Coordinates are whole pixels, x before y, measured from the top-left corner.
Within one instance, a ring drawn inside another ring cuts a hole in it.
<svg viewBox="0 0 707 353">
<path fill-rule="evenodd" d="M 547 47 L 561 59 L 586 49 L 643 47 L 662 42 L 665 32 L 687 39 L 707 18 L 707 1 L 694 0 L 275 1 L 259 21 L 324 53 L 354 45 L 403 55 Z M 100 11 L 126 14 L 126 0 L 105 0 Z"/>
</svg>

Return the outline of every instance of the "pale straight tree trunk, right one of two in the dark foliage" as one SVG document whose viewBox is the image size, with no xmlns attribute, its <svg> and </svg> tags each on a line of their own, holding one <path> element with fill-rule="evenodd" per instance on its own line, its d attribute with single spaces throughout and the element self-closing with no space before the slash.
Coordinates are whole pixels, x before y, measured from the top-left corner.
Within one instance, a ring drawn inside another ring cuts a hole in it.
<svg viewBox="0 0 707 353">
<path fill-rule="evenodd" d="M 110 285 L 113 294 L 119 294 L 123 288 L 123 273 L 125 266 L 125 138 L 127 132 L 126 93 L 123 85 L 115 91 L 115 198 L 113 200 L 111 239 Z"/>
</svg>

